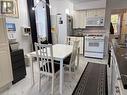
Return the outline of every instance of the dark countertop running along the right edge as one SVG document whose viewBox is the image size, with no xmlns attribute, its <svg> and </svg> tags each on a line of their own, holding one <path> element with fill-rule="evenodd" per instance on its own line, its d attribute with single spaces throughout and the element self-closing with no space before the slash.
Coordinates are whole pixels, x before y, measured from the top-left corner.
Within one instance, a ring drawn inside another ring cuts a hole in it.
<svg viewBox="0 0 127 95">
<path fill-rule="evenodd" d="M 123 86 L 127 89 L 127 47 L 119 46 L 119 43 L 117 43 L 117 45 L 114 45 L 113 48 Z"/>
</svg>

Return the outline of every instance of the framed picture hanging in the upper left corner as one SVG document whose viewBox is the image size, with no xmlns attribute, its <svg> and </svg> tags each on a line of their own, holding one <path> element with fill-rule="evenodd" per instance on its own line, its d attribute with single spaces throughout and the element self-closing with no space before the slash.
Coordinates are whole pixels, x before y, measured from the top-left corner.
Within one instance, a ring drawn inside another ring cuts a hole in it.
<svg viewBox="0 0 127 95">
<path fill-rule="evenodd" d="M 17 0 L 0 0 L 0 15 L 18 17 Z"/>
</svg>

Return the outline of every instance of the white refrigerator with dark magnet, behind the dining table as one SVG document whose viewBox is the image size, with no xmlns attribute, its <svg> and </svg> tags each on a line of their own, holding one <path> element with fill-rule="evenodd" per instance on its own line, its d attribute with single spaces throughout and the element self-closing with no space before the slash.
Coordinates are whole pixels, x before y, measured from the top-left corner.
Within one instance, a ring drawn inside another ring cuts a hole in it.
<svg viewBox="0 0 127 95">
<path fill-rule="evenodd" d="M 53 43 L 65 44 L 67 36 L 73 34 L 73 18 L 67 14 L 51 15 Z"/>
</svg>

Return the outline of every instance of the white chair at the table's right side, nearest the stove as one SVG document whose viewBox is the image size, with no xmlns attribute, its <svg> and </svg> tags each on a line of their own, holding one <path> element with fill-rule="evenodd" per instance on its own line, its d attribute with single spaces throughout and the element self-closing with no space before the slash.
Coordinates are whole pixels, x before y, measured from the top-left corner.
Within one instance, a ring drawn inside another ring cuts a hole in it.
<svg viewBox="0 0 127 95">
<path fill-rule="evenodd" d="M 75 72 L 75 67 L 76 67 L 75 61 L 79 48 L 78 45 L 79 45 L 79 41 L 74 41 L 72 54 L 64 60 L 64 66 L 69 68 L 69 73 L 72 72 L 72 68 L 74 69 Z"/>
</svg>

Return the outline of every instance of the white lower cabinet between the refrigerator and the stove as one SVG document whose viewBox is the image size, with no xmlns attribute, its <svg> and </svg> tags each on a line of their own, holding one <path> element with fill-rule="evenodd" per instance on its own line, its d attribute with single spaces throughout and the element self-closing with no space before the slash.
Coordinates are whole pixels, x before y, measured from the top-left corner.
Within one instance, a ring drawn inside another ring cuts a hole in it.
<svg viewBox="0 0 127 95">
<path fill-rule="evenodd" d="M 75 37 L 75 36 L 68 36 L 67 42 L 70 45 L 73 45 L 74 41 L 79 40 L 79 48 L 80 54 L 83 54 L 83 37 Z"/>
</svg>

